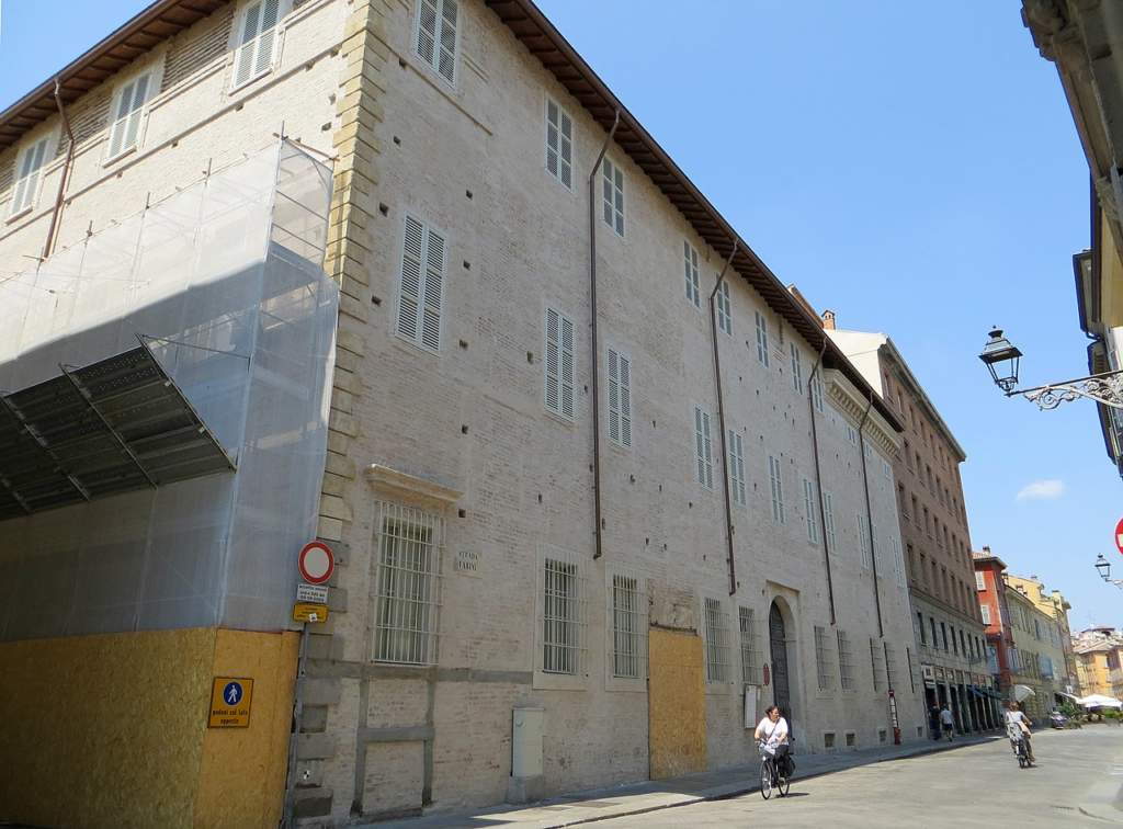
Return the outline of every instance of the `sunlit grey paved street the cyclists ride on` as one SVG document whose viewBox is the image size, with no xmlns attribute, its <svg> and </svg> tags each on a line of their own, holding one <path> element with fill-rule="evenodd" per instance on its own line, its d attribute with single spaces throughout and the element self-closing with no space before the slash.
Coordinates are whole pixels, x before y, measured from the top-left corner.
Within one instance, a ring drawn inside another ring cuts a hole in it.
<svg viewBox="0 0 1123 829">
<path fill-rule="evenodd" d="M 1110 804 L 1123 784 L 1123 729 L 1042 731 L 1038 765 L 1019 769 L 1008 744 L 850 768 L 801 781 L 787 799 L 758 792 L 604 821 L 605 827 L 705 827 L 768 823 L 830 826 L 1106 826 L 1081 808 L 1123 825 Z M 1117 776 L 1111 776 L 1115 772 Z M 1097 783 L 1097 785 L 1092 785 Z M 1111 791 L 1106 791 L 1111 786 Z M 768 821 L 766 823 L 765 821 Z"/>
</svg>

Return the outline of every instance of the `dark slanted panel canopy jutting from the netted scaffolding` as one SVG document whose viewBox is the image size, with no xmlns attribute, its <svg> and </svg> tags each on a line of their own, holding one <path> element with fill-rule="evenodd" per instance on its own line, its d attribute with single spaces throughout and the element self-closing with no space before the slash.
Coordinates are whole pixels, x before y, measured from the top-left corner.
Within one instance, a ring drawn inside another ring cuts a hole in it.
<svg viewBox="0 0 1123 829">
<path fill-rule="evenodd" d="M 144 343 L 60 372 L 0 393 L 0 520 L 235 468 Z"/>
</svg>

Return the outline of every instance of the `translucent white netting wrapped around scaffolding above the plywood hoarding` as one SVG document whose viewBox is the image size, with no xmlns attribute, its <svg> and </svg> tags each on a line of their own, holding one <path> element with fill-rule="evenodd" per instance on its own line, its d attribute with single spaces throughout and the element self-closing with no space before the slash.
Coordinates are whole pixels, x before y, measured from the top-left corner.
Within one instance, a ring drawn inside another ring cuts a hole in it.
<svg viewBox="0 0 1123 829">
<path fill-rule="evenodd" d="M 0 391 L 143 336 L 238 465 L 0 522 L 0 639 L 289 626 L 327 452 L 330 197 L 281 142 L 0 282 Z"/>
</svg>

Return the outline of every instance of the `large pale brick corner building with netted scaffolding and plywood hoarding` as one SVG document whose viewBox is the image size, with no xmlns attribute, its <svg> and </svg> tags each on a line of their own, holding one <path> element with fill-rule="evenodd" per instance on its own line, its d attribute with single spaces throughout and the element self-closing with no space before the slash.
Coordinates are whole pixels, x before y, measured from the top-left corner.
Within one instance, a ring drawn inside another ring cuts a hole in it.
<svg viewBox="0 0 1123 829">
<path fill-rule="evenodd" d="M 299 818 L 923 736 L 897 410 L 533 3 L 161 0 L 58 82 L 73 145 L 0 113 L 0 818 L 275 825 L 313 536 Z"/>
</svg>

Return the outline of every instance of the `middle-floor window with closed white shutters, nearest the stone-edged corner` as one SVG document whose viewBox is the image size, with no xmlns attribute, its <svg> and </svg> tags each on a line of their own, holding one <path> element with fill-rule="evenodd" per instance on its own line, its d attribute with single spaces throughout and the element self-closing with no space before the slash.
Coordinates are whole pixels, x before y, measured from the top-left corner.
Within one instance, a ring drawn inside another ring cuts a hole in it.
<svg viewBox="0 0 1123 829">
<path fill-rule="evenodd" d="M 430 352 L 440 350 L 440 309 L 445 281 L 445 237 L 405 217 L 398 335 Z"/>
</svg>

